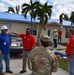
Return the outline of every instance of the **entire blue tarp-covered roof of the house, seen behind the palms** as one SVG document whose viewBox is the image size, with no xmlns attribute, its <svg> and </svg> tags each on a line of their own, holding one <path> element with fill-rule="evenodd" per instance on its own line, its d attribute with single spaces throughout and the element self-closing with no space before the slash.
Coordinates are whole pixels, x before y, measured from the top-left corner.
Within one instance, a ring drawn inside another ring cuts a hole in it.
<svg viewBox="0 0 74 75">
<path fill-rule="evenodd" d="M 27 18 L 24 18 L 24 16 L 21 14 L 0 12 L 0 20 L 30 22 L 31 17 L 27 16 Z M 33 22 L 39 22 L 39 20 L 36 18 L 35 20 L 33 20 Z M 59 23 L 59 20 L 58 19 L 49 19 L 48 23 L 50 23 L 50 22 Z M 71 26 L 71 22 L 63 20 L 63 25 Z"/>
</svg>

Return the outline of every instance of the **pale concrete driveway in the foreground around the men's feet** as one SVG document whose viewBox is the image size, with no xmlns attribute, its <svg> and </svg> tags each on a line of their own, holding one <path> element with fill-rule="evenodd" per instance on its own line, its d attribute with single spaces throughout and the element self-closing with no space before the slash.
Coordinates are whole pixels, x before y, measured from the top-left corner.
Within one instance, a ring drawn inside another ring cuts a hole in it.
<svg viewBox="0 0 74 75">
<path fill-rule="evenodd" d="M 6 75 L 31 75 L 31 71 L 28 70 L 28 68 L 26 73 L 20 74 L 19 72 L 21 70 L 21 65 L 22 65 L 22 59 L 11 59 L 11 70 L 14 73 L 13 74 L 6 73 Z M 59 68 L 58 71 L 53 73 L 52 75 L 69 75 L 69 74 L 68 72 Z"/>
</svg>

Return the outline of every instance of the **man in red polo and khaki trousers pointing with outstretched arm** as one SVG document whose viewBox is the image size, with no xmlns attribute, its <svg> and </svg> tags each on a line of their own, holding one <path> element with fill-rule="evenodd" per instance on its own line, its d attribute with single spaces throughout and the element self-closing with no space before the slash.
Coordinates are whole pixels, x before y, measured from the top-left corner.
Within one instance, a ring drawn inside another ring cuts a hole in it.
<svg viewBox="0 0 74 75">
<path fill-rule="evenodd" d="M 23 65 L 22 65 L 22 70 L 20 71 L 20 73 L 25 73 L 26 72 L 26 59 L 27 59 L 27 56 L 30 53 L 30 51 L 35 48 L 36 40 L 35 40 L 34 36 L 31 34 L 30 28 L 26 29 L 26 34 L 19 34 L 14 31 L 11 31 L 11 32 L 22 38 L 24 50 L 23 50 Z"/>
</svg>

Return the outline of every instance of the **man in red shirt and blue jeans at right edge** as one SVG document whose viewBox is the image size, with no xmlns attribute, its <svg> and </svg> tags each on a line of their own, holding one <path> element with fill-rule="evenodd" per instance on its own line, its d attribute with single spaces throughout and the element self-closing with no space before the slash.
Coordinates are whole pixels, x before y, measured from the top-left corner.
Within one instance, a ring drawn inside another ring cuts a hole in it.
<svg viewBox="0 0 74 75">
<path fill-rule="evenodd" d="M 69 74 L 74 75 L 74 29 L 68 29 L 69 40 L 66 46 L 67 62 Z"/>
</svg>

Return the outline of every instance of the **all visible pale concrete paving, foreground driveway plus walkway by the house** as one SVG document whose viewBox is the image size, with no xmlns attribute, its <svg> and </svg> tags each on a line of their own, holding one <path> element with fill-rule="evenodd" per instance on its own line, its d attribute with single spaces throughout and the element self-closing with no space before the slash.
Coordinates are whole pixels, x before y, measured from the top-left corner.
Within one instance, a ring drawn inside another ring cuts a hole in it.
<svg viewBox="0 0 74 75">
<path fill-rule="evenodd" d="M 53 47 L 50 47 L 50 48 L 53 49 Z M 58 45 L 57 49 L 59 49 L 59 48 L 65 49 L 65 46 Z M 26 73 L 20 74 L 20 71 L 22 69 L 22 58 L 21 58 L 21 56 L 17 57 L 16 55 L 13 55 L 13 56 L 15 56 L 15 58 L 12 57 L 10 60 L 11 70 L 14 73 L 13 74 L 6 73 L 6 75 L 31 75 L 31 71 L 28 68 L 27 68 Z M 3 63 L 3 65 L 4 65 L 4 71 L 5 71 L 5 63 Z M 59 68 L 58 71 L 53 73 L 52 75 L 69 75 L 69 73 Z"/>
</svg>

